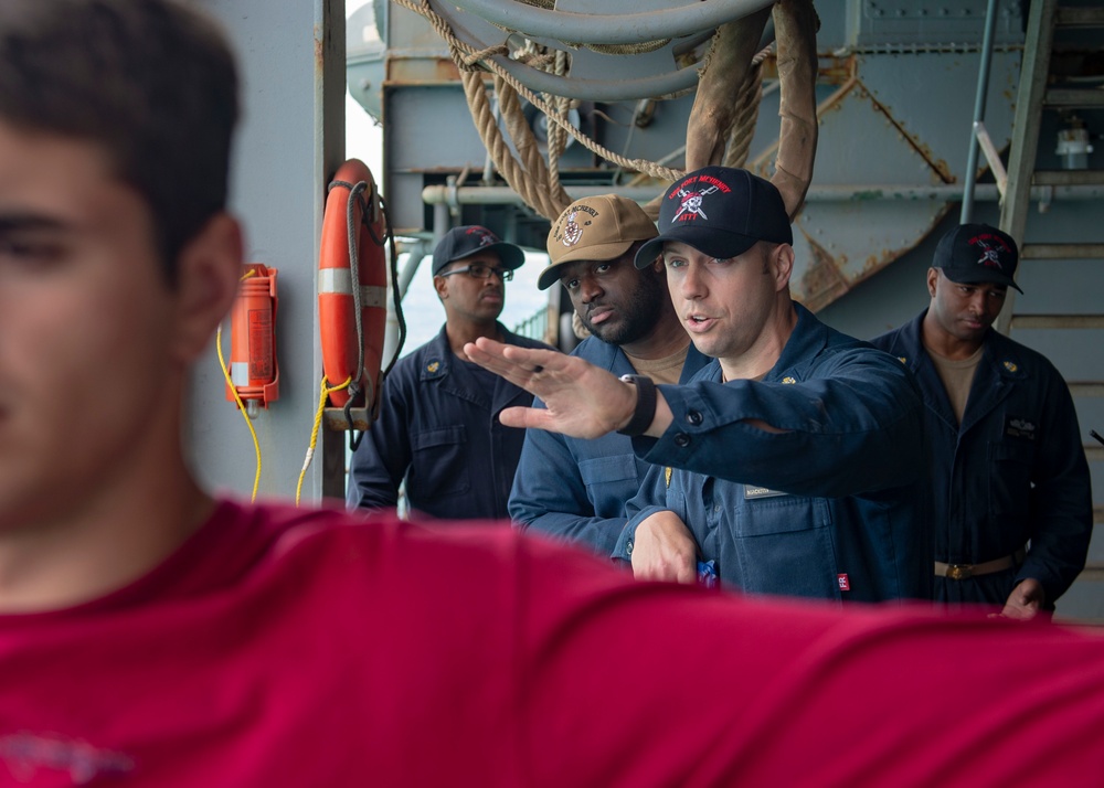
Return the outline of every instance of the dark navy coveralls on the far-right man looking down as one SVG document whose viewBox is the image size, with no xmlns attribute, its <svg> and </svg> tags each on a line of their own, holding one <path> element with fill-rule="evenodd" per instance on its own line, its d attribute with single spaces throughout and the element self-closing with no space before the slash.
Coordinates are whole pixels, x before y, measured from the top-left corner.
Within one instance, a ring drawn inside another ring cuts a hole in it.
<svg viewBox="0 0 1104 788">
<path fill-rule="evenodd" d="M 1015 554 L 1022 566 L 966 579 L 935 578 L 936 598 L 1004 605 L 1034 577 L 1053 606 L 1085 565 L 1092 487 L 1078 414 L 1054 365 L 990 330 L 959 426 L 924 350 L 926 310 L 873 343 L 899 356 L 924 395 L 932 461 L 935 558 L 979 564 Z"/>
</svg>

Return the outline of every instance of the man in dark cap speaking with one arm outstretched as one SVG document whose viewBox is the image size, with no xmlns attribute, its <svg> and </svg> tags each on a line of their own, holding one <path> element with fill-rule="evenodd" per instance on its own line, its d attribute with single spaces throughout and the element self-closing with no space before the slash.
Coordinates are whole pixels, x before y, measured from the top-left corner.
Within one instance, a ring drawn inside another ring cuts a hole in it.
<svg viewBox="0 0 1104 788">
<path fill-rule="evenodd" d="M 778 190 L 707 167 L 667 190 L 657 253 L 682 327 L 715 359 L 686 385 L 617 379 L 577 358 L 469 356 L 544 401 L 517 426 L 618 430 L 652 465 L 613 551 L 636 576 L 839 601 L 927 598 L 922 401 L 892 356 L 790 300 L 793 231 Z M 539 372 L 533 372 L 539 370 Z"/>
</svg>

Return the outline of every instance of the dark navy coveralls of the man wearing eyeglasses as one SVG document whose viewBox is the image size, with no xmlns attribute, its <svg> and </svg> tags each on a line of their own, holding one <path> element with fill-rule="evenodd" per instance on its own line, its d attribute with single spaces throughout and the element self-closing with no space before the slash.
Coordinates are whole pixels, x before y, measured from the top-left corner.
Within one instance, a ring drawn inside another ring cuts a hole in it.
<svg viewBox="0 0 1104 788">
<path fill-rule="evenodd" d="M 498 329 L 507 344 L 549 348 Z M 498 414 L 531 395 L 457 359 L 444 328 L 399 360 L 382 393 L 380 417 L 352 457 L 348 504 L 394 507 L 405 479 L 412 514 L 507 519 L 526 430 L 502 426 Z"/>
</svg>

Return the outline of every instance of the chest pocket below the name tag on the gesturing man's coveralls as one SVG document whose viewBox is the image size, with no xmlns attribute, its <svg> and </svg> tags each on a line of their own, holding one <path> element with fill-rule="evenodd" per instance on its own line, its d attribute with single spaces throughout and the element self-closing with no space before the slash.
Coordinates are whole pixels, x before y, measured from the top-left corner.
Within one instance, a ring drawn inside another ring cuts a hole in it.
<svg viewBox="0 0 1104 788">
<path fill-rule="evenodd" d="M 831 512 L 822 498 L 762 494 L 736 504 L 741 585 L 761 594 L 839 599 Z"/>
</svg>

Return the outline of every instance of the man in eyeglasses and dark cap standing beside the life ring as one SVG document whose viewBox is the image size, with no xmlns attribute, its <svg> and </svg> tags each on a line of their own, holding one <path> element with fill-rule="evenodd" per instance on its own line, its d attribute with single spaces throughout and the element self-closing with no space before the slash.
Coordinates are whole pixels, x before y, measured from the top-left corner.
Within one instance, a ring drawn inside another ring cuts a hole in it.
<svg viewBox="0 0 1104 788">
<path fill-rule="evenodd" d="M 526 432 L 503 426 L 498 414 L 531 397 L 468 361 L 464 344 L 487 337 L 548 348 L 498 321 L 506 283 L 524 262 L 520 247 L 478 225 L 454 227 L 437 244 L 433 286 L 445 324 L 388 376 L 380 416 L 349 468 L 350 507 L 390 509 L 405 482 L 412 518 L 508 518 Z"/>
</svg>

